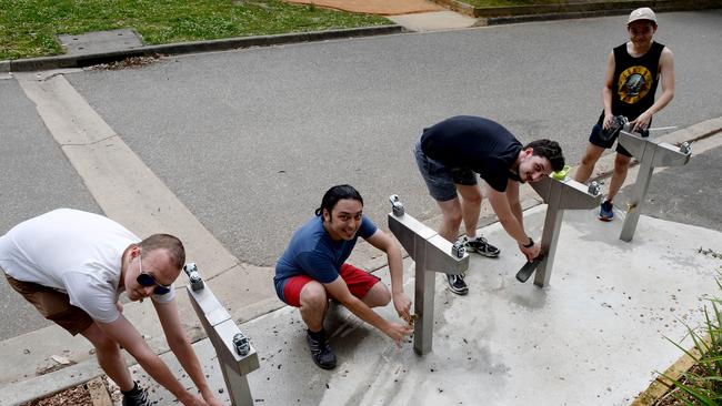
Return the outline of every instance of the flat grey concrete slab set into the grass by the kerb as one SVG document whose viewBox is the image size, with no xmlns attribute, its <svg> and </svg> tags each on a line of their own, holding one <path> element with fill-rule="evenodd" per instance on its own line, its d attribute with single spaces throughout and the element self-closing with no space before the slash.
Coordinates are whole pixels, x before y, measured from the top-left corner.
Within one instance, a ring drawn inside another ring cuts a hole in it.
<svg viewBox="0 0 722 406">
<path fill-rule="evenodd" d="M 121 51 L 143 45 L 140 35 L 128 28 L 77 35 L 58 35 L 58 41 L 70 55 Z"/>
</svg>

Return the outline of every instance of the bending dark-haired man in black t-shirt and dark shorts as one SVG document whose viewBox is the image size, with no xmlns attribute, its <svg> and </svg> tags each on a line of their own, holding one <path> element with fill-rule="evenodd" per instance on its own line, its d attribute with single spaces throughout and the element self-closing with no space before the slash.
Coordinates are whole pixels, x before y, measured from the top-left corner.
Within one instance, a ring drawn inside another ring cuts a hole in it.
<svg viewBox="0 0 722 406">
<path fill-rule="evenodd" d="M 507 233 L 517 241 L 527 260 L 539 255 L 539 244 L 524 231 L 519 182 L 537 182 L 564 168 L 562 149 L 556 142 L 538 140 L 522 148 L 501 124 L 458 115 L 425 129 L 414 152 L 429 194 L 441 209 L 439 235 L 453 243 L 463 221 L 467 250 L 499 256 L 499 248 L 477 236 L 482 200 L 478 173 L 487 182 L 489 202 Z M 448 275 L 448 280 L 451 292 L 459 295 L 469 292 L 463 275 Z"/>
</svg>

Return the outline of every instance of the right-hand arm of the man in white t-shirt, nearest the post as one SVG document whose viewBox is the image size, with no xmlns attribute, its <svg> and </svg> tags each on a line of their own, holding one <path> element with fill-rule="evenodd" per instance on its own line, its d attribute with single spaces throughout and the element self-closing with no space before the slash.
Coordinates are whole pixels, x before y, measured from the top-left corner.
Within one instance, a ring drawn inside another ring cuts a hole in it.
<svg viewBox="0 0 722 406">
<path fill-rule="evenodd" d="M 178 358 L 178 362 L 193 380 L 203 399 L 211 406 L 220 406 L 221 403 L 213 396 L 213 392 L 208 386 L 201 363 L 183 331 L 176 300 L 166 303 L 152 302 L 160 324 L 163 327 L 168 346 L 176 354 L 176 358 Z"/>
</svg>

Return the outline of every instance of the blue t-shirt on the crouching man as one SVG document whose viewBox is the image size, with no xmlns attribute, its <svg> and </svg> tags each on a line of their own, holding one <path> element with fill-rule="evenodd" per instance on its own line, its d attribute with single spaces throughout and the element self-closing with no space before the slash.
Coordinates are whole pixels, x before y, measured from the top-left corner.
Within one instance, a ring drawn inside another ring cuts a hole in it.
<svg viewBox="0 0 722 406">
<path fill-rule="evenodd" d="M 311 219 L 293 233 L 289 246 L 275 263 L 273 284 L 279 298 L 283 300 L 283 287 L 291 276 L 304 274 L 320 283 L 335 281 L 357 240 L 369 238 L 377 230 L 377 225 L 362 215 L 361 226 L 353 240 L 335 242 L 323 229 L 322 216 Z"/>
</svg>

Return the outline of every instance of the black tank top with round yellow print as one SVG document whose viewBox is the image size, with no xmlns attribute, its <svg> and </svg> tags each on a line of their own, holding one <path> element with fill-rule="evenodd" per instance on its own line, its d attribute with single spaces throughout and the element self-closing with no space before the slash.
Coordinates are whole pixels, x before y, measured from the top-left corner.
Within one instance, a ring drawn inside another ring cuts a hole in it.
<svg viewBox="0 0 722 406">
<path fill-rule="evenodd" d="M 634 58 L 626 52 L 626 43 L 614 48 L 612 114 L 632 121 L 654 104 L 663 49 L 663 44 L 652 42 L 645 54 Z"/>
</svg>

